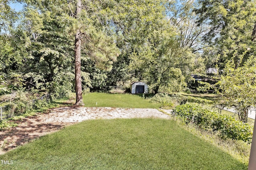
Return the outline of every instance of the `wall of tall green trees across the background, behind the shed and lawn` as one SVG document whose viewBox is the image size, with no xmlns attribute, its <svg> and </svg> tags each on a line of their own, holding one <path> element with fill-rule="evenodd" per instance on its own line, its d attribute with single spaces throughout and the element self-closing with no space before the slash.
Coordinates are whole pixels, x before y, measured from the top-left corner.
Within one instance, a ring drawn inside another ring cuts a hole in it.
<svg viewBox="0 0 256 170">
<path fill-rule="evenodd" d="M 255 0 L 0 0 L 0 9 L 0 95 L 75 91 L 83 105 L 86 88 L 142 80 L 155 94 L 180 92 L 191 74 L 219 68 L 219 80 L 255 62 Z"/>
</svg>

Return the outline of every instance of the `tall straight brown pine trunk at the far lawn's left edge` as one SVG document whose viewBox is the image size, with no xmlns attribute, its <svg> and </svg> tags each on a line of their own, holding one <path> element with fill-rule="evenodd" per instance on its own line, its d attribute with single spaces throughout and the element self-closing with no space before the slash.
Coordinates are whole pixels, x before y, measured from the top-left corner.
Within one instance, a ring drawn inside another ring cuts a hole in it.
<svg viewBox="0 0 256 170">
<path fill-rule="evenodd" d="M 76 18 L 82 10 L 81 0 L 77 0 L 76 4 Z M 80 28 L 76 30 L 75 37 L 75 88 L 76 88 L 76 104 L 77 106 L 84 106 L 82 96 L 82 78 L 81 78 L 81 39 L 80 39 Z"/>
</svg>

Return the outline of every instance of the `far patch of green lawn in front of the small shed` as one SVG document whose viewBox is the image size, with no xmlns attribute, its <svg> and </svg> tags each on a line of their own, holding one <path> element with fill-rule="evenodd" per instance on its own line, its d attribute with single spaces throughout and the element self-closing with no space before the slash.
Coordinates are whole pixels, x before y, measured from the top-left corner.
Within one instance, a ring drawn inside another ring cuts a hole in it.
<svg viewBox="0 0 256 170">
<path fill-rule="evenodd" d="M 84 95 L 83 100 L 84 107 L 159 108 L 161 106 L 134 94 L 90 93 Z"/>
</svg>

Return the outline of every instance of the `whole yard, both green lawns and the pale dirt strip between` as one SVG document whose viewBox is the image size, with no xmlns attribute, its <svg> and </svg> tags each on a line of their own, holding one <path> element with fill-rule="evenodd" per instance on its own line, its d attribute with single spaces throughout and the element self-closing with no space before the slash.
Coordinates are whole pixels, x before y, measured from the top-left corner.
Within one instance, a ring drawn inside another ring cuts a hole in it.
<svg viewBox="0 0 256 170">
<path fill-rule="evenodd" d="M 1 155 L 0 160 L 12 160 L 13 164 L 0 168 L 247 169 L 246 161 L 185 130 L 158 111 L 159 104 L 140 96 L 91 93 L 84 96 L 84 101 L 85 107 L 51 109 L 35 119 L 28 118 L 33 121 L 23 122 L 15 133 L 9 131 L 6 136 L 17 135 L 20 141 L 22 137 L 31 141 L 33 138 L 27 137 L 36 132 L 36 139 Z M 113 119 L 117 117 L 132 119 Z M 74 124 L 78 120 L 86 121 Z M 61 130 L 45 135 L 52 127 Z M 44 133 L 38 134 L 40 131 Z"/>
</svg>

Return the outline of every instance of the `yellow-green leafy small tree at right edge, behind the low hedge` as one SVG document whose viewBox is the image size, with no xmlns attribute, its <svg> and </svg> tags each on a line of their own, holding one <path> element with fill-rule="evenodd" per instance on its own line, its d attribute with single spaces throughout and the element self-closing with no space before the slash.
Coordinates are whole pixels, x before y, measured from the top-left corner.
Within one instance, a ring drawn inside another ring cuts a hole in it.
<svg viewBox="0 0 256 170">
<path fill-rule="evenodd" d="M 242 61 L 240 56 L 240 60 Z M 250 58 L 243 65 L 236 65 L 234 60 L 225 64 L 224 74 L 217 77 L 216 84 L 202 83 L 205 86 L 200 90 L 209 88 L 219 95 L 225 105 L 238 108 L 240 120 L 247 122 L 248 108 L 256 105 L 256 58 Z"/>
</svg>

